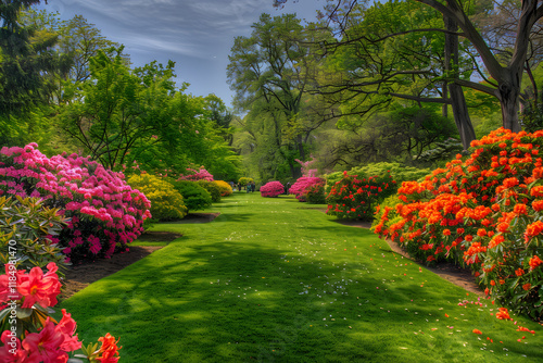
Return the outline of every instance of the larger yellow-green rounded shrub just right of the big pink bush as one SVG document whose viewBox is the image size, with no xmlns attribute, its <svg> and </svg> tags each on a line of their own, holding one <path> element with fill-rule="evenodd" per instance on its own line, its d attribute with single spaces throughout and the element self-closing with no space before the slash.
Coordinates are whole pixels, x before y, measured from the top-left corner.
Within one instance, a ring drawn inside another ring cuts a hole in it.
<svg viewBox="0 0 543 363">
<path fill-rule="evenodd" d="M 151 201 L 151 214 L 156 221 L 181 220 L 187 215 L 182 196 L 166 180 L 150 174 L 132 175 L 128 184 Z"/>
</svg>

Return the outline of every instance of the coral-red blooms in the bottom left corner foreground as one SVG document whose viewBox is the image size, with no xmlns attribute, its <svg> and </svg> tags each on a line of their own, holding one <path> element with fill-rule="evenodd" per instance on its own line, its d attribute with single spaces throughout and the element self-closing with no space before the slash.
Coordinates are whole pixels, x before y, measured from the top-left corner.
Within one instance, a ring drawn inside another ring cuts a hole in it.
<svg viewBox="0 0 543 363">
<path fill-rule="evenodd" d="M 100 349 L 98 345 L 85 348 L 75 334 L 77 324 L 66 310 L 62 310 L 58 323 L 49 316 L 49 308 L 56 304 L 61 292 L 61 283 L 54 262 L 47 270 L 43 274 L 40 267 L 33 267 L 27 273 L 17 270 L 14 263 L 5 264 L 5 274 L 0 276 L 0 331 L 3 331 L 0 361 L 66 362 L 70 352 L 81 349 L 90 362 L 117 362 L 119 348 L 110 334 L 99 339 Z"/>
</svg>

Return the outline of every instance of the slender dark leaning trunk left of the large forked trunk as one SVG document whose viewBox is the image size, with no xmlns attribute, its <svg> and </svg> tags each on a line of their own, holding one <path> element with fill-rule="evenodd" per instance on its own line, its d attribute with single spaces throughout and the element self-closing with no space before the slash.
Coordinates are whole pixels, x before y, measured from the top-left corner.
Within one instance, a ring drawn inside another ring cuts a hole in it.
<svg viewBox="0 0 543 363">
<path fill-rule="evenodd" d="M 454 20 L 443 16 L 445 27 L 449 32 L 456 33 L 458 25 Z M 454 79 L 458 78 L 458 36 L 452 33 L 445 33 L 445 71 L 451 72 Z M 454 122 L 460 134 L 464 150 L 467 150 L 472 140 L 476 139 L 473 125 L 469 118 L 468 108 L 462 86 L 454 82 L 449 84 L 449 96 L 453 109 Z"/>
</svg>

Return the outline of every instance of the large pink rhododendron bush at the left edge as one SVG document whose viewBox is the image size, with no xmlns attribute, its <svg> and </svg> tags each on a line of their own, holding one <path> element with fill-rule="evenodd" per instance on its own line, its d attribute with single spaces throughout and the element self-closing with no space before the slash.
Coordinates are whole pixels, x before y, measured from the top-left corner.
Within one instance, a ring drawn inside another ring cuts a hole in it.
<svg viewBox="0 0 543 363">
<path fill-rule="evenodd" d="M 51 238 L 67 260 L 110 258 L 143 231 L 150 201 L 124 180 L 122 173 L 66 153 L 47 158 L 36 143 L 0 150 L 0 196 L 38 197 L 70 217 Z"/>
</svg>

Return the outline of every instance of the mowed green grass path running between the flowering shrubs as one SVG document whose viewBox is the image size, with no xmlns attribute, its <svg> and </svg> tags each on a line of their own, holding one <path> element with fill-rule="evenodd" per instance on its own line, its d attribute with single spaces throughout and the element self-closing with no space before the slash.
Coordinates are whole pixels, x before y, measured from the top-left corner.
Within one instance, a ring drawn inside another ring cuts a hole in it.
<svg viewBox="0 0 543 363">
<path fill-rule="evenodd" d="M 212 223 L 155 225 L 184 237 L 58 310 L 87 343 L 119 337 L 121 362 L 543 362 L 540 325 L 318 209 L 239 193 Z"/>
</svg>

